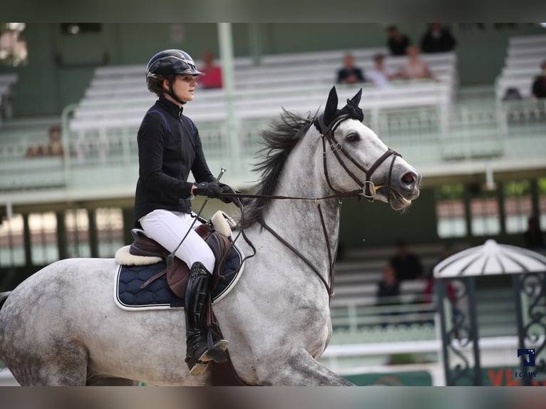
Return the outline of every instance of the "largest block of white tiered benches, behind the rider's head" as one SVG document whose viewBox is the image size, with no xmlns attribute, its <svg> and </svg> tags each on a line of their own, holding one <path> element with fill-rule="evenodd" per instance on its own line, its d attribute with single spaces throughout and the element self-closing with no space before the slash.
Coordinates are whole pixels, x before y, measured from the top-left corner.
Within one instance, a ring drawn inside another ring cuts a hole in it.
<svg viewBox="0 0 546 409">
<path fill-rule="evenodd" d="M 356 56 L 371 58 L 384 49 L 356 50 Z M 334 73 L 341 61 L 340 51 L 265 56 L 262 65 L 249 65 L 249 58 L 236 58 L 235 116 L 237 120 L 266 119 L 279 115 L 281 107 L 299 112 L 313 111 L 323 103 L 324 95 L 335 83 Z M 455 53 L 423 58 L 441 83 L 400 83 L 396 90 L 378 90 L 365 85 L 362 108 L 407 108 L 449 103 L 457 83 Z M 405 61 L 388 58 L 386 66 L 398 71 Z M 371 68 L 366 65 L 366 68 Z M 74 112 L 70 129 L 74 132 L 101 128 L 138 127 L 153 95 L 142 87 L 142 66 L 97 68 L 86 95 Z M 224 90 L 205 90 L 188 105 L 188 115 L 197 123 L 226 120 Z"/>
</svg>

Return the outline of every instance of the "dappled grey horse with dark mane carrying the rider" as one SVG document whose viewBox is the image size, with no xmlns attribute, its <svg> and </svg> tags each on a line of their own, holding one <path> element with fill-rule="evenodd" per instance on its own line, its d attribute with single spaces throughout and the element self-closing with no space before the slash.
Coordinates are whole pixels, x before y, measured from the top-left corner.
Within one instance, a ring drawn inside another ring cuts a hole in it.
<svg viewBox="0 0 546 409">
<path fill-rule="evenodd" d="M 400 210 L 418 197 L 421 182 L 363 125 L 360 96 L 338 110 L 332 88 L 322 115 L 285 112 L 262 133 L 256 195 L 234 232 L 244 229 L 256 254 L 213 304 L 235 371 L 249 385 L 350 384 L 316 361 L 332 331 L 341 200 L 363 195 Z M 116 269 L 114 259 L 65 259 L 4 294 L 0 357 L 19 383 L 210 383 L 208 370 L 188 373 L 184 314 L 118 308 Z"/>
</svg>

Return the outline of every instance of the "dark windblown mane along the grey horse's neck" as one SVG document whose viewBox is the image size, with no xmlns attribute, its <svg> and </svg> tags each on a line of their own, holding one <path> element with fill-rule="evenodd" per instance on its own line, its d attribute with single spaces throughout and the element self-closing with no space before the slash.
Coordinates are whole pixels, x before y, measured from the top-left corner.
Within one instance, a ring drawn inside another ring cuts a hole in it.
<svg viewBox="0 0 546 409">
<path fill-rule="evenodd" d="M 253 171 L 259 172 L 261 177 L 252 187 L 253 192 L 257 195 L 273 195 L 289 153 L 307 133 L 314 118 L 310 113 L 307 117 L 302 117 L 283 109 L 280 118 L 275 120 L 269 129 L 262 130 L 264 147 L 257 152 L 257 157 L 262 160 L 253 167 Z M 264 207 L 267 202 L 269 200 L 262 198 L 247 202 L 242 219 L 244 227 L 263 221 Z"/>
</svg>

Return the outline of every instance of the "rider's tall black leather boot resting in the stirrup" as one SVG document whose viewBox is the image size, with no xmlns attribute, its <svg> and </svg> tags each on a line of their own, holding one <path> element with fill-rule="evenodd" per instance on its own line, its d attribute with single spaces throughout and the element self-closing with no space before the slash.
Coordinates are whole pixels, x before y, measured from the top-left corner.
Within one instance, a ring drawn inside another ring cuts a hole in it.
<svg viewBox="0 0 546 409">
<path fill-rule="evenodd" d="M 186 312 L 186 363 L 192 375 L 199 375 L 207 368 L 208 361 L 223 363 L 227 357 L 227 341 L 212 343 L 212 335 L 204 332 L 207 305 L 210 296 L 211 274 L 202 263 L 192 265 L 185 294 Z M 207 342 L 208 341 L 208 342 Z"/>
</svg>

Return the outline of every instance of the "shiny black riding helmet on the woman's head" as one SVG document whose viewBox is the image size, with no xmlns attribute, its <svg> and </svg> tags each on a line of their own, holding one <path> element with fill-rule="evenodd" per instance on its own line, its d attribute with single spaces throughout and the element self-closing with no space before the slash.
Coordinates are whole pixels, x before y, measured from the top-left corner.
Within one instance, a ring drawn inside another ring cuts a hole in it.
<svg viewBox="0 0 546 409">
<path fill-rule="evenodd" d="M 195 68 L 195 63 L 190 54 L 182 50 L 164 50 L 155 54 L 146 66 L 146 83 L 148 90 L 153 93 L 164 93 L 163 80 L 169 80 L 169 94 L 172 98 L 178 100 L 176 95 L 172 93 L 172 79 L 174 76 L 192 75 L 202 76 L 204 73 Z M 182 102 L 182 101 L 180 101 Z"/>
</svg>

